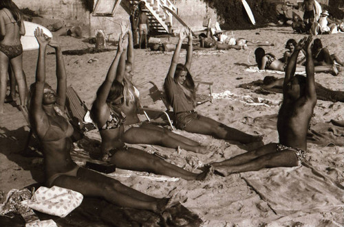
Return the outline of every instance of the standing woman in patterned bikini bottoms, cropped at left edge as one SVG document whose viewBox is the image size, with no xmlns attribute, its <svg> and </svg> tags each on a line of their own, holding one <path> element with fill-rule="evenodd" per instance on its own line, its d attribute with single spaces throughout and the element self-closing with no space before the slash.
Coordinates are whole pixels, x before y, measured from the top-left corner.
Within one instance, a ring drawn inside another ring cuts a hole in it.
<svg viewBox="0 0 344 227">
<path fill-rule="evenodd" d="M 8 64 L 18 83 L 21 106 L 25 105 L 28 85 L 23 74 L 23 47 L 21 36 L 25 34 L 23 16 L 12 0 L 0 1 L 0 114 L 6 97 Z"/>
</svg>

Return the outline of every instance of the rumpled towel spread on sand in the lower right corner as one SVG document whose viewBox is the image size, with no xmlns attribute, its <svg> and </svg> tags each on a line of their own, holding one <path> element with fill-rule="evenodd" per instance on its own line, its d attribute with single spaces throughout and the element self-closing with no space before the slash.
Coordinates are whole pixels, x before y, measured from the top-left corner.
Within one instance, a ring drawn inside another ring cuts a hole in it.
<svg viewBox="0 0 344 227">
<path fill-rule="evenodd" d="M 241 177 L 277 215 L 331 212 L 344 208 L 344 190 L 305 166 L 262 169 Z"/>
</svg>

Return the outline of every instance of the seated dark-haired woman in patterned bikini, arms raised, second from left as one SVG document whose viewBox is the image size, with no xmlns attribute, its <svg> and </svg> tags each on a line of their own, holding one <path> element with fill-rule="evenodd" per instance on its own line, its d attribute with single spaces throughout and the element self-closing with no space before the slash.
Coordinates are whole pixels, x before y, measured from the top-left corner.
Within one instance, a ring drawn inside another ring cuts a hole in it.
<svg viewBox="0 0 344 227">
<path fill-rule="evenodd" d="M 105 82 L 98 88 L 96 99 L 91 108 L 92 120 L 96 123 L 102 138 L 102 159 L 114 163 L 120 169 L 148 171 L 185 180 L 206 180 L 212 174 L 211 168 L 200 174 L 194 174 L 167 163 L 158 156 L 125 146 L 124 141 L 133 142 L 132 137 L 136 136 L 140 139 L 140 135 L 125 135 L 126 116 L 121 110 L 125 101 L 124 86 L 118 80 L 122 80 L 125 73 L 129 29 L 127 26 L 121 25 L 121 30 L 116 57 L 107 72 Z M 147 141 L 143 134 L 141 136 L 141 142 Z M 135 141 L 138 142 L 138 140 Z"/>
</svg>

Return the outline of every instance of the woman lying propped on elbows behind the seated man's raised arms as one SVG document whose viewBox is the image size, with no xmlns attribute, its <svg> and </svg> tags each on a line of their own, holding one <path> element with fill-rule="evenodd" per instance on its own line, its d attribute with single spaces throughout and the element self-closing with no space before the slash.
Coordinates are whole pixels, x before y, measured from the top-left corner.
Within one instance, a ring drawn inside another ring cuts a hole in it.
<svg viewBox="0 0 344 227">
<path fill-rule="evenodd" d="M 261 70 L 264 69 L 271 69 L 271 70 L 277 70 L 277 71 L 286 71 L 287 69 L 287 63 L 283 63 L 272 53 L 265 53 L 265 50 L 261 47 L 258 47 L 255 50 L 255 58 L 256 62 L 258 64 L 258 68 Z M 296 65 L 297 72 L 303 72 L 305 71 L 305 67 L 302 65 Z M 338 69 L 334 65 L 325 65 L 325 66 L 316 66 L 314 67 L 315 72 L 330 72 L 332 75 L 338 75 Z"/>
</svg>

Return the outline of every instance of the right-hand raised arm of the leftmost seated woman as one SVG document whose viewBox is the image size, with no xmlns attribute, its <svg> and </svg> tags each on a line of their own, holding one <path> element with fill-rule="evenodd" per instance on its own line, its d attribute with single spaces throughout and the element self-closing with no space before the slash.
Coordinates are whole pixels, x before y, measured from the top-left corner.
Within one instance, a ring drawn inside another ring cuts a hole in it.
<svg viewBox="0 0 344 227">
<path fill-rule="evenodd" d="M 56 53 L 56 103 L 61 107 L 61 110 L 65 110 L 65 99 L 67 92 L 67 73 L 65 71 L 65 61 L 63 60 L 61 46 L 55 40 L 51 40 L 49 45 L 55 49 Z"/>
</svg>

